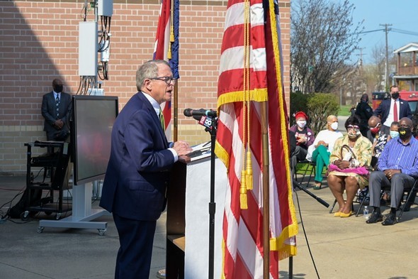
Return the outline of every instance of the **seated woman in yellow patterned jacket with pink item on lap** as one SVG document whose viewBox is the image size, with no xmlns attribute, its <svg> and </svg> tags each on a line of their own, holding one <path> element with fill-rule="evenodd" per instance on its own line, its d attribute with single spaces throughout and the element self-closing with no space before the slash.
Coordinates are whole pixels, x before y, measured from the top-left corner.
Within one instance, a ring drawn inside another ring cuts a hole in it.
<svg viewBox="0 0 418 279">
<path fill-rule="evenodd" d="M 350 116 L 345 123 L 347 134 L 335 141 L 329 157 L 329 189 L 337 199 L 335 217 L 350 217 L 353 199 L 358 188 L 368 185 L 368 166 L 371 163 L 371 142 L 361 136 L 360 120 Z M 343 194 L 346 191 L 346 199 Z"/>
</svg>

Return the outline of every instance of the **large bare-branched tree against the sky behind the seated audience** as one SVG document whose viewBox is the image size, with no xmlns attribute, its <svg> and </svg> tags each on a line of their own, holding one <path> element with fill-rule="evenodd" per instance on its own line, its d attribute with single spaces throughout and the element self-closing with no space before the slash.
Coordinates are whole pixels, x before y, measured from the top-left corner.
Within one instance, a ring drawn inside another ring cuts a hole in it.
<svg viewBox="0 0 418 279">
<path fill-rule="evenodd" d="M 344 77 L 344 67 L 358 48 L 354 5 L 348 0 L 298 0 L 293 2 L 290 46 L 290 82 L 294 91 L 331 92 Z"/>
</svg>

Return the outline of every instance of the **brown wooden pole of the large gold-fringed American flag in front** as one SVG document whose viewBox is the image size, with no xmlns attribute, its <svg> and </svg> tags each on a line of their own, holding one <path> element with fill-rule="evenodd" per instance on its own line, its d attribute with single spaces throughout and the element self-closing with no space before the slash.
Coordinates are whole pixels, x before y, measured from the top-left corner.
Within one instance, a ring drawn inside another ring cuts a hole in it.
<svg viewBox="0 0 418 279">
<path fill-rule="evenodd" d="M 261 148 L 263 153 L 263 278 L 270 278 L 270 187 L 267 102 L 261 102 Z"/>
</svg>

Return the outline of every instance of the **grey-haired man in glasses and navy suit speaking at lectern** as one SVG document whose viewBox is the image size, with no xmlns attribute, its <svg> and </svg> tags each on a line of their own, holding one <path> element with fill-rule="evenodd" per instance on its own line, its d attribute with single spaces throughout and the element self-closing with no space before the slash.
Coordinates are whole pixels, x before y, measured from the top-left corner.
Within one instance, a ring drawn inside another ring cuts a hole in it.
<svg viewBox="0 0 418 279">
<path fill-rule="evenodd" d="M 169 169 L 188 143 L 168 143 L 159 119 L 162 102 L 170 101 L 175 80 L 169 64 L 152 60 L 136 74 L 139 92 L 115 120 L 111 158 L 100 206 L 113 213 L 120 248 L 115 279 L 149 278 L 154 231 L 164 210 Z"/>
</svg>

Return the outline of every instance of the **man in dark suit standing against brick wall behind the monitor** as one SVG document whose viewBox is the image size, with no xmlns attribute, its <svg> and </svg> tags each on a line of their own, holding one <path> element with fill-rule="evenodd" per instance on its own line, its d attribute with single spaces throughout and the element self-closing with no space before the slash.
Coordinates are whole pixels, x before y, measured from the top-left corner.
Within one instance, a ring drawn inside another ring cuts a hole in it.
<svg viewBox="0 0 418 279">
<path fill-rule="evenodd" d="M 52 81 L 52 91 L 43 95 L 41 112 L 45 119 L 43 131 L 47 134 L 47 141 L 64 141 L 57 136 L 69 134 L 68 112 L 72 109 L 71 95 L 62 92 L 61 80 Z M 49 151 L 50 152 L 50 151 Z"/>
</svg>

